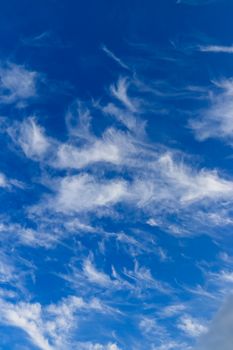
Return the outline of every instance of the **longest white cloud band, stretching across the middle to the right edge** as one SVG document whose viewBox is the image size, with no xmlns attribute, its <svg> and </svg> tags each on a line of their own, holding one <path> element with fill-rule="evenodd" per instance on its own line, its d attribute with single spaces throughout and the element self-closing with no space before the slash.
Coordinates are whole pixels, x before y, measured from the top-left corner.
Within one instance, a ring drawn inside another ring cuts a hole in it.
<svg viewBox="0 0 233 350">
<path fill-rule="evenodd" d="M 92 153 L 86 154 L 86 165 L 94 161 L 95 153 Z M 71 160 L 70 166 L 75 169 L 75 161 L 72 157 Z M 66 161 L 68 162 L 68 157 Z M 156 219 L 158 226 L 165 225 L 170 232 L 184 234 L 185 231 L 182 231 L 180 226 L 168 225 L 164 215 L 161 217 L 161 212 L 166 214 L 177 210 L 186 211 L 187 217 L 188 213 L 192 212 L 193 205 L 199 206 L 195 220 L 196 224 L 200 224 L 204 219 L 201 215 L 203 206 L 209 207 L 214 203 L 211 209 L 214 213 L 218 203 L 221 204 L 224 200 L 231 201 L 233 182 L 230 179 L 221 177 L 217 170 L 194 169 L 172 152 L 152 152 L 148 155 L 146 152 L 143 154 L 139 148 L 138 152 L 133 150 L 126 153 L 125 157 L 121 156 L 119 162 L 123 169 L 132 174 L 131 179 L 125 180 L 124 176 L 114 176 L 112 179 L 104 177 L 102 170 L 109 170 L 105 167 L 95 167 L 94 173 L 83 171 L 78 175 L 54 178 L 48 182 L 53 194 L 42 198 L 32 210 L 41 213 L 49 209 L 68 215 L 92 211 L 113 214 L 116 204 L 124 204 L 159 218 Z M 76 168 L 84 164 L 84 158 L 77 157 Z M 118 171 L 123 169 L 119 167 Z M 227 218 L 226 210 L 225 217 Z M 205 223 L 207 221 L 214 225 L 216 220 L 213 220 L 212 215 L 205 216 Z M 147 222 L 154 225 L 154 221 Z M 224 225 L 230 222 L 228 220 L 221 223 Z"/>
</svg>

